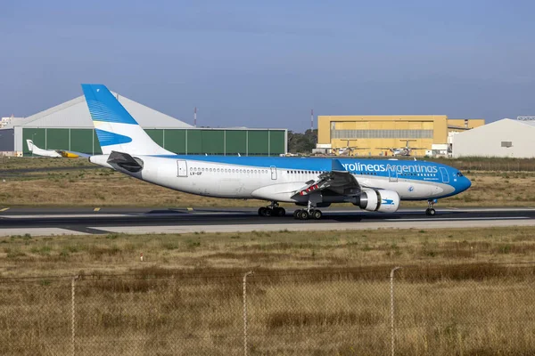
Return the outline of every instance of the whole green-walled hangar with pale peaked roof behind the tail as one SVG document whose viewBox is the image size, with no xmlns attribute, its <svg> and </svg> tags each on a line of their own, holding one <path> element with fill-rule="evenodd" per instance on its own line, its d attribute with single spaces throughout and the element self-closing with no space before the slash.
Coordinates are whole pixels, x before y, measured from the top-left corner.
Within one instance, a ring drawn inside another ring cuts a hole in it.
<svg viewBox="0 0 535 356">
<path fill-rule="evenodd" d="M 285 129 L 193 127 L 113 94 L 152 140 L 177 154 L 278 156 L 287 151 Z M 12 137 L 10 147 L 19 156 L 30 156 L 28 139 L 45 150 L 102 153 L 83 95 L 30 117 L 13 120 L 0 130 L 0 138 L 3 135 Z"/>
</svg>

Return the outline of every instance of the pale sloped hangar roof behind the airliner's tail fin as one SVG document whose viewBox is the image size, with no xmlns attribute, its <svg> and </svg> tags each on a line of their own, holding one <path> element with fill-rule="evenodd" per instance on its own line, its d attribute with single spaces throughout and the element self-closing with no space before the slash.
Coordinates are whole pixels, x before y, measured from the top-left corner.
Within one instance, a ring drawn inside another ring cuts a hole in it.
<svg viewBox="0 0 535 356">
<path fill-rule="evenodd" d="M 162 114 L 160 111 L 146 107 L 117 93 L 113 93 L 113 95 L 143 128 L 193 127 L 175 117 L 169 117 L 169 115 Z M 89 115 L 89 109 L 87 109 L 86 98 L 82 95 L 7 125 L 10 128 L 13 126 L 93 128 L 93 121 Z"/>
</svg>

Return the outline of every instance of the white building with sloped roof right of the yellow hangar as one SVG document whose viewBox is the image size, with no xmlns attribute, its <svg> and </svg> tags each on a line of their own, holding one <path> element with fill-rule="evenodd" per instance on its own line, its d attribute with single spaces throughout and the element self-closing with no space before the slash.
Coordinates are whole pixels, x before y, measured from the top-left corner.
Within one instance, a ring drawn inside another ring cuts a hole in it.
<svg viewBox="0 0 535 356">
<path fill-rule="evenodd" d="M 535 121 L 504 118 L 456 134 L 453 157 L 535 158 Z"/>
</svg>

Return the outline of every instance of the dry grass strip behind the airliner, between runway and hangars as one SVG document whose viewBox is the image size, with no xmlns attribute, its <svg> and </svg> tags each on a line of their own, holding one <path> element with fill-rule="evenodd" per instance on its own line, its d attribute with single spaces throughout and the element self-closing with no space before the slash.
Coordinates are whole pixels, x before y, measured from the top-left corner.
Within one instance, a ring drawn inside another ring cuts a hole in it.
<svg viewBox="0 0 535 356">
<path fill-rule="evenodd" d="M 0 158 L 0 206 L 262 206 L 257 200 L 193 196 L 137 181 L 84 159 Z M 466 163 L 463 161 L 463 165 Z M 39 169 L 21 172 L 21 169 Z M 54 170 L 61 168 L 60 170 Z M 72 169 L 67 169 L 72 168 Z M 65 170 L 62 170 L 65 169 Z M 535 206 L 535 172 L 471 171 L 470 190 L 439 206 Z M 4 182 L 5 181 L 5 182 Z M 403 202 L 402 206 L 425 206 Z"/>
</svg>

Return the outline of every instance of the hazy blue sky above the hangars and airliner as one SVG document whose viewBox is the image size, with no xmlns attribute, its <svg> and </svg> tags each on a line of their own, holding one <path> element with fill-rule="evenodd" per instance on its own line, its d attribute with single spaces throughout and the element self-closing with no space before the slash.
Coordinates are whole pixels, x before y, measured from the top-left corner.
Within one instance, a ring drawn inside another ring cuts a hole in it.
<svg viewBox="0 0 535 356">
<path fill-rule="evenodd" d="M 193 124 L 535 116 L 532 1 L 0 0 L 0 116 L 112 91 Z"/>
</svg>

